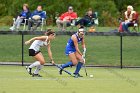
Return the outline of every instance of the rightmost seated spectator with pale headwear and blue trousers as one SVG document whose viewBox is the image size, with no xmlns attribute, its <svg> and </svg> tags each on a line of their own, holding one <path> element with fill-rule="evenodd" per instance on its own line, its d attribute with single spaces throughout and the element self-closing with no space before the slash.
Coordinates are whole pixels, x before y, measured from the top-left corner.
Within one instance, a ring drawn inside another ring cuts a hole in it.
<svg viewBox="0 0 140 93">
<path fill-rule="evenodd" d="M 135 22 L 135 14 L 133 7 L 131 5 L 127 6 L 127 11 L 124 13 L 125 20 L 120 23 L 119 32 L 130 32 L 128 27 Z"/>
</svg>

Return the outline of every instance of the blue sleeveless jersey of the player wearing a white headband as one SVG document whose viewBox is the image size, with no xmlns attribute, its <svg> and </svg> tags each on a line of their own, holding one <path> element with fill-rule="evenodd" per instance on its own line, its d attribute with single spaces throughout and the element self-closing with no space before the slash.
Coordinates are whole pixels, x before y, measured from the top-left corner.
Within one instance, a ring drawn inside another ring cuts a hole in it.
<svg viewBox="0 0 140 93">
<path fill-rule="evenodd" d="M 78 35 L 77 35 L 77 33 L 74 34 L 74 35 L 75 35 L 76 38 L 77 38 L 77 42 L 80 43 L 80 42 L 82 41 L 83 38 L 79 38 Z M 76 52 L 76 49 L 75 49 L 75 45 L 74 45 L 73 40 L 70 38 L 70 39 L 68 40 L 67 45 L 66 45 L 65 53 L 66 53 L 66 55 L 69 55 L 69 54 L 71 54 L 71 53 L 73 53 L 73 52 Z"/>
</svg>

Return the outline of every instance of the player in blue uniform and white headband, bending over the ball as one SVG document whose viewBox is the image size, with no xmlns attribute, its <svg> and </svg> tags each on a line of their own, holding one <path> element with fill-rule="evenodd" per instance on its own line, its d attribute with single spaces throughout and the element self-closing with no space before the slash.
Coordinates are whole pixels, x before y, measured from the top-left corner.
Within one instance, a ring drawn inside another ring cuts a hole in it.
<svg viewBox="0 0 140 93">
<path fill-rule="evenodd" d="M 70 61 L 60 66 L 62 69 L 64 69 L 76 65 L 76 70 L 73 73 L 75 78 L 82 77 L 79 74 L 79 71 L 85 62 L 84 57 L 85 57 L 86 47 L 84 42 L 84 35 L 85 35 L 84 32 L 85 32 L 84 27 L 80 27 L 77 33 L 73 34 L 71 38 L 68 40 L 65 49 L 65 54 L 69 57 Z M 82 44 L 83 53 L 80 51 L 78 47 L 80 43 Z M 62 74 L 63 71 L 62 69 L 60 69 L 59 71 L 60 74 Z"/>
</svg>

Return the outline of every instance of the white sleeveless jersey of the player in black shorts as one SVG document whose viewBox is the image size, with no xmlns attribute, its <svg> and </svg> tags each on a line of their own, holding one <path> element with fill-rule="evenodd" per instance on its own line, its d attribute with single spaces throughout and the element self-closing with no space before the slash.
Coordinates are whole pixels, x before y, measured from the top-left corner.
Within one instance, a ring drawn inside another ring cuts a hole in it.
<svg viewBox="0 0 140 93">
<path fill-rule="evenodd" d="M 47 38 L 46 38 L 45 41 L 42 41 L 42 40 L 35 40 L 35 41 L 31 44 L 31 46 L 30 46 L 29 49 L 34 49 L 35 51 L 39 51 L 40 47 L 42 47 L 42 46 L 47 46 L 47 45 L 50 43 L 50 41 L 47 42 L 47 40 L 48 40 L 48 36 L 47 36 Z"/>
</svg>

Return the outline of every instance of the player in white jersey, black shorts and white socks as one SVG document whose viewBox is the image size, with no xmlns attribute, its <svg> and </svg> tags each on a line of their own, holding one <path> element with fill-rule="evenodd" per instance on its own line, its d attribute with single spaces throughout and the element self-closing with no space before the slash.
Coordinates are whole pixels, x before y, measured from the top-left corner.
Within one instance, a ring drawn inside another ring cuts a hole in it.
<svg viewBox="0 0 140 93">
<path fill-rule="evenodd" d="M 55 38 L 55 32 L 53 32 L 51 29 L 48 29 L 45 35 L 46 36 L 31 38 L 30 40 L 25 42 L 26 45 L 31 44 L 29 48 L 29 56 L 32 56 L 36 60 L 30 66 L 26 66 L 27 72 L 33 77 L 42 77 L 41 75 L 39 75 L 39 71 L 42 69 L 43 65 L 45 64 L 45 59 L 40 51 L 40 47 L 42 46 L 47 47 L 49 58 L 52 64 L 54 64 L 51 47 L 50 47 L 50 41 Z M 33 67 L 36 67 L 36 69 L 32 73 Z"/>
</svg>

